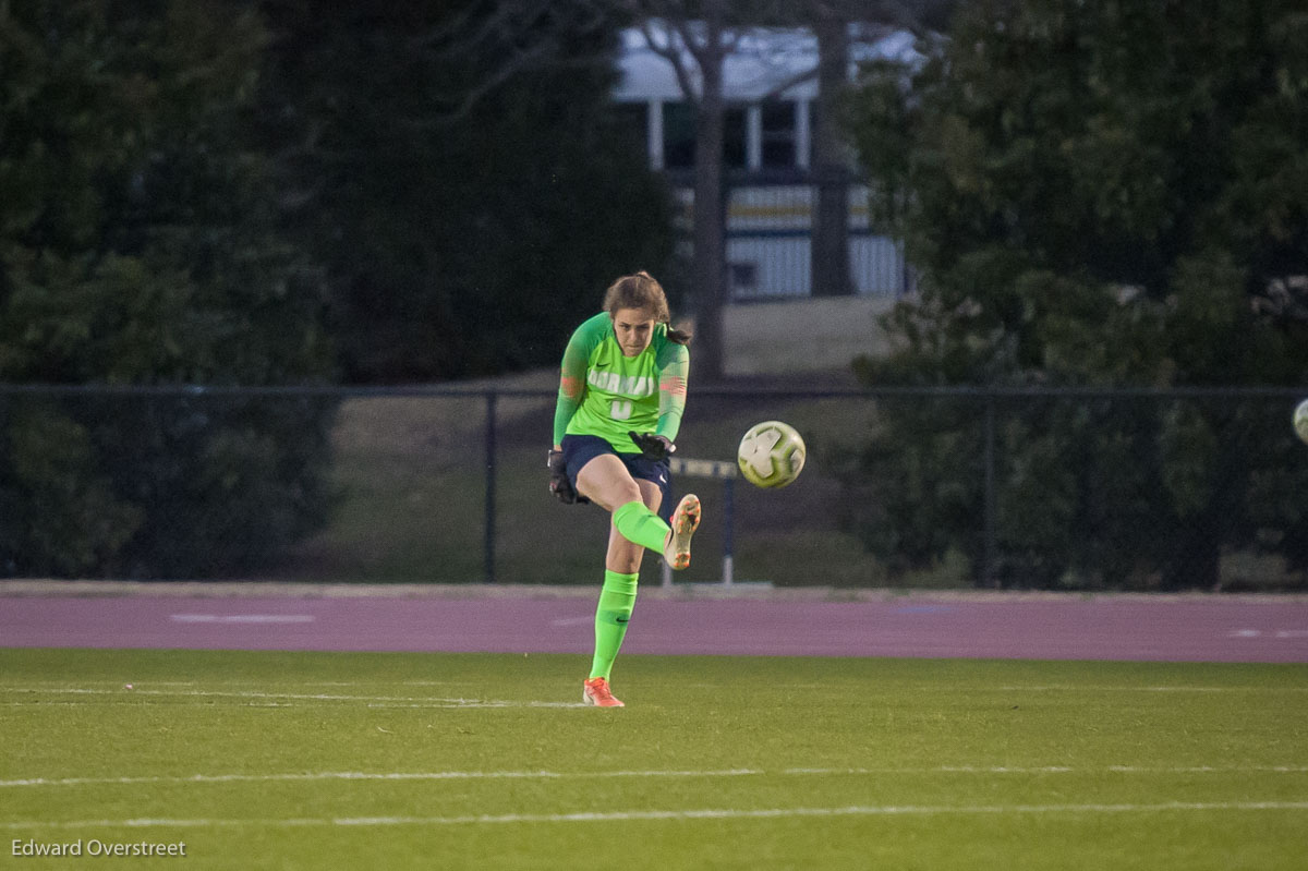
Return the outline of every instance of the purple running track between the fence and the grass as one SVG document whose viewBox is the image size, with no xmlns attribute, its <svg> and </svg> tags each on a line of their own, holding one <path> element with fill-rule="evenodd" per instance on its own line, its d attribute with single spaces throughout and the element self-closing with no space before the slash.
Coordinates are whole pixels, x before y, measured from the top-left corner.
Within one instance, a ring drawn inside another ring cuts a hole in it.
<svg viewBox="0 0 1308 871">
<path fill-rule="evenodd" d="M 0 647 L 589 654 L 593 598 L 0 596 Z M 1308 662 L 1308 599 L 642 596 L 624 654 Z"/>
</svg>

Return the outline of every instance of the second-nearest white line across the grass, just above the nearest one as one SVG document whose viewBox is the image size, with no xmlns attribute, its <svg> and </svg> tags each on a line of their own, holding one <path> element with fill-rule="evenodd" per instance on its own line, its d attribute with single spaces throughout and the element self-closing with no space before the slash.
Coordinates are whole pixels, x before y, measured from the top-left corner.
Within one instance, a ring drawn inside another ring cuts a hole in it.
<svg viewBox="0 0 1308 871">
<path fill-rule="evenodd" d="M 456 781 L 456 779 L 598 779 L 598 778 L 723 778 L 723 777 L 891 777 L 930 774 L 1308 774 L 1308 765 L 939 765 L 934 768 L 730 768 L 708 770 L 619 772 L 288 772 L 281 774 L 188 774 L 145 777 L 31 777 L 0 781 L 0 789 L 25 786 L 122 786 L 137 783 L 263 783 L 275 781 Z"/>
</svg>

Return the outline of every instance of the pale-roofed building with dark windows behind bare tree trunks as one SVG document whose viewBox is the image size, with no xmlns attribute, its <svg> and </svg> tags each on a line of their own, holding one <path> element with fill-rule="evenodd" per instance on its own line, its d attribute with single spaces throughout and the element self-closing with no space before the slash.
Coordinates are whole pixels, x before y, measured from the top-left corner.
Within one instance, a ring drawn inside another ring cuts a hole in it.
<svg viewBox="0 0 1308 871">
<path fill-rule="evenodd" d="M 655 25 L 657 27 L 657 25 Z M 668 39 L 666 30 L 651 30 Z M 850 76 L 859 63 L 920 55 L 912 34 L 884 26 L 850 27 Z M 681 205 L 678 229 L 689 246 L 695 208 L 695 110 L 672 64 L 640 29 L 623 33 L 615 97 L 642 132 L 650 167 L 667 174 Z M 693 67 L 693 65 L 692 65 Z M 812 296 L 811 175 L 816 120 L 818 41 L 806 29 L 755 29 L 726 58 L 723 169 L 727 199 L 727 282 L 734 302 Z M 853 160 L 850 160 L 853 166 Z M 849 260 L 854 292 L 895 298 L 912 279 L 900 246 L 867 222 L 867 190 L 850 183 Z"/>
</svg>

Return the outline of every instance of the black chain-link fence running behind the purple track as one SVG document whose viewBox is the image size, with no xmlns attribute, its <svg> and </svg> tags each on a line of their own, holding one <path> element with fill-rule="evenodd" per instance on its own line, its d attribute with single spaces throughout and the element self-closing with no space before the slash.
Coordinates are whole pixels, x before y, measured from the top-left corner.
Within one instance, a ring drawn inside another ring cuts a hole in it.
<svg viewBox="0 0 1308 871">
<path fill-rule="evenodd" d="M 1308 395 L 1308 388 L 1304 388 Z M 785 420 L 789 488 L 681 476 L 678 582 L 1308 589 L 1299 391 L 692 391 L 679 456 Z M 0 388 L 5 577 L 595 583 L 547 490 L 549 391 Z M 730 526 L 729 526 L 730 521 Z M 646 582 L 658 560 L 646 561 Z"/>
</svg>

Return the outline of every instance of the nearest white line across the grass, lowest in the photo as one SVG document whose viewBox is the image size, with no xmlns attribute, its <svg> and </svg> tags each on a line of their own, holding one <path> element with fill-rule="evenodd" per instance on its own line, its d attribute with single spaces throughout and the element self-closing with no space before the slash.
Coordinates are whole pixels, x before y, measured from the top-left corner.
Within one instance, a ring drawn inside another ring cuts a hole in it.
<svg viewBox="0 0 1308 871">
<path fill-rule="evenodd" d="M 957 816 L 1033 813 L 1189 813 L 1232 811 L 1308 811 L 1308 802 L 1164 802 L 1159 804 L 880 804 L 849 807 L 693 808 L 668 811 L 608 811 L 582 813 L 504 813 L 467 816 L 337 816 L 268 819 L 129 819 L 129 820 L 13 820 L 0 828 L 95 829 L 95 828 L 230 828 L 230 827 L 390 827 L 390 825 L 493 825 L 511 823 L 625 823 L 640 820 L 748 820 L 795 816 Z"/>
</svg>

